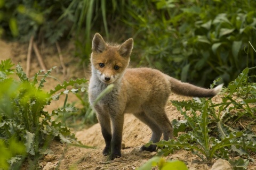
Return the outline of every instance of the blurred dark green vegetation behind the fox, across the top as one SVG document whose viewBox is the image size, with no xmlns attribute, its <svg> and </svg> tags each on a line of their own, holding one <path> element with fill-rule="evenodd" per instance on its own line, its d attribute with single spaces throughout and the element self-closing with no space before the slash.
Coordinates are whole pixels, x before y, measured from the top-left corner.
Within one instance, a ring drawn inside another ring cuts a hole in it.
<svg viewBox="0 0 256 170">
<path fill-rule="evenodd" d="M 71 38 L 85 65 L 95 32 L 118 43 L 133 37 L 137 66 L 209 87 L 217 77 L 227 84 L 246 66 L 244 49 L 256 43 L 255 7 L 250 0 L 1 0 L 0 33 L 26 42 L 31 36 L 50 43 Z"/>
</svg>

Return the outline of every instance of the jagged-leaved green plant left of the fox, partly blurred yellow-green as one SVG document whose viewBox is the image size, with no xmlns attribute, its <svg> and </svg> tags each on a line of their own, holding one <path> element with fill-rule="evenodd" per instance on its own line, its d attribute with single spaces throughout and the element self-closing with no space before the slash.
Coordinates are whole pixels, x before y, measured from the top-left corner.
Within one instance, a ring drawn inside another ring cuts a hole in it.
<svg viewBox="0 0 256 170">
<path fill-rule="evenodd" d="M 77 112 L 77 109 L 75 107 L 63 107 L 48 113 L 44 111 L 44 107 L 50 105 L 52 100 L 58 100 L 60 95 L 84 91 L 84 88 L 67 90 L 67 87 L 84 83 L 87 80 L 65 81 L 58 84 L 50 92 L 44 92 L 42 90 L 44 82 L 46 82 L 52 69 L 44 73 L 39 81 L 37 80 L 38 75 L 42 71 L 36 73 L 34 78 L 29 80 L 18 64 L 16 67 L 18 81 L 7 76 L 13 74 L 12 66 L 10 60 L 2 61 L 0 65 L 0 135 L 6 143 L 5 145 L 11 147 L 9 139 L 22 141 L 23 148 L 26 148 L 26 155 L 37 157 L 42 146 L 53 138 L 58 138 L 65 143 L 76 143 L 74 134 L 71 134 L 66 126 L 52 120 L 52 117 L 62 112 Z M 15 159 L 5 158 L 9 159 L 12 164 L 22 160 L 20 156 L 16 156 Z"/>
</svg>

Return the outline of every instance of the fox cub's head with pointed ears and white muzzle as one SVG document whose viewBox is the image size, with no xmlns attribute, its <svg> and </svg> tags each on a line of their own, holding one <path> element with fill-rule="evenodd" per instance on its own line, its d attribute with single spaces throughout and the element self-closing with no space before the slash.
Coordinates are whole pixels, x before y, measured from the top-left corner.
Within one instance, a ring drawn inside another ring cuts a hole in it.
<svg viewBox="0 0 256 170">
<path fill-rule="evenodd" d="M 99 33 L 95 33 L 92 40 L 92 74 L 97 74 L 103 83 L 115 82 L 129 65 L 132 48 L 132 38 L 121 45 L 110 45 L 105 43 Z"/>
</svg>

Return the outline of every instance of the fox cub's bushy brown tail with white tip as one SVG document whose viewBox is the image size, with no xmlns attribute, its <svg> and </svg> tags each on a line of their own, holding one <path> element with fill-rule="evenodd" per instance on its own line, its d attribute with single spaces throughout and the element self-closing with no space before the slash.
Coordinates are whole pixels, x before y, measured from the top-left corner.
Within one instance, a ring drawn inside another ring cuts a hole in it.
<svg viewBox="0 0 256 170">
<path fill-rule="evenodd" d="M 223 86 L 223 84 L 220 84 L 214 89 L 205 89 L 205 88 L 194 86 L 189 83 L 183 83 L 172 77 L 170 77 L 170 83 L 171 83 L 172 92 L 178 95 L 190 96 L 190 97 L 213 97 L 221 91 Z"/>
</svg>

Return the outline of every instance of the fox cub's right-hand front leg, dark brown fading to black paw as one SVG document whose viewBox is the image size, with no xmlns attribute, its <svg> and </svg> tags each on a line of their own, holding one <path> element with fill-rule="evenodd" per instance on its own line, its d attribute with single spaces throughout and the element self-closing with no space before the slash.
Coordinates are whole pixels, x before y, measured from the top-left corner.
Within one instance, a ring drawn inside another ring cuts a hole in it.
<svg viewBox="0 0 256 170">
<path fill-rule="evenodd" d="M 112 122 L 112 140 L 111 140 L 111 154 L 109 156 L 110 160 L 121 157 L 121 144 L 122 144 L 122 133 L 124 124 L 124 115 L 110 115 Z"/>
</svg>

